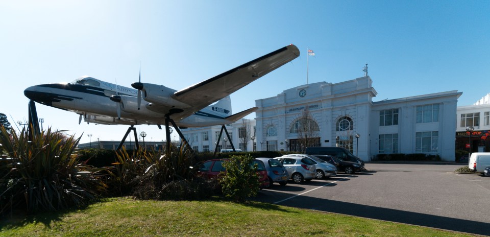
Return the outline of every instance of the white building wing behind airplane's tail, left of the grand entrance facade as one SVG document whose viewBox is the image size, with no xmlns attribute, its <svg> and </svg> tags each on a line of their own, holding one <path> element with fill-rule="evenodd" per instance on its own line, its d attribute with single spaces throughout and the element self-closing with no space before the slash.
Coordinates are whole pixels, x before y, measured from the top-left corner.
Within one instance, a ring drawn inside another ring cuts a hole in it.
<svg viewBox="0 0 490 237">
<path fill-rule="evenodd" d="M 181 129 L 192 149 L 199 152 L 214 152 L 221 130 L 222 126 Z M 226 130 L 235 149 L 254 151 L 252 136 L 255 134 L 255 120 L 239 120 L 236 123 L 226 125 Z M 245 137 L 246 134 L 248 134 L 247 137 Z M 223 131 L 217 151 L 219 152 L 222 148 L 225 149 L 225 146 L 226 149 L 232 149 L 231 143 Z"/>
</svg>

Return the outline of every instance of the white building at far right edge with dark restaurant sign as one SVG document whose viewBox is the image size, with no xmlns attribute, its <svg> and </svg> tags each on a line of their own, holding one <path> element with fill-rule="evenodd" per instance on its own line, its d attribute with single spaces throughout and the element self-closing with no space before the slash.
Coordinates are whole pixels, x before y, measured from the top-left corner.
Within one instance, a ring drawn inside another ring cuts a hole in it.
<svg viewBox="0 0 490 237">
<path fill-rule="evenodd" d="M 470 151 L 471 144 L 471 152 L 490 151 L 490 94 L 473 105 L 459 106 L 456 122 L 456 149 Z"/>
</svg>

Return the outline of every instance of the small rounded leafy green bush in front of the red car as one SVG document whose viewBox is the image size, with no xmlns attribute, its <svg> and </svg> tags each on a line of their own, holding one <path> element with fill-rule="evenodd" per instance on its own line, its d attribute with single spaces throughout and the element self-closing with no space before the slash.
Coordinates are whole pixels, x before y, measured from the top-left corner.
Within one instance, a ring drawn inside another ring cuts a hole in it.
<svg viewBox="0 0 490 237">
<path fill-rule="evenodd" d="M 232 156 L 223 162 L 226 172 L 220 179 L 225 197 L 235 202 L 246 202 L 248 197 L 255 197 L 259 191 L 257 165 L 250 165 L 254 158 L 251 155 Z"/>
</svg>

